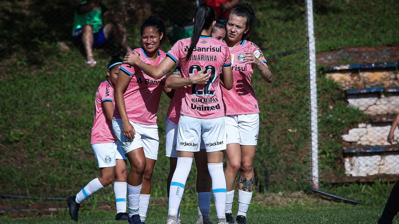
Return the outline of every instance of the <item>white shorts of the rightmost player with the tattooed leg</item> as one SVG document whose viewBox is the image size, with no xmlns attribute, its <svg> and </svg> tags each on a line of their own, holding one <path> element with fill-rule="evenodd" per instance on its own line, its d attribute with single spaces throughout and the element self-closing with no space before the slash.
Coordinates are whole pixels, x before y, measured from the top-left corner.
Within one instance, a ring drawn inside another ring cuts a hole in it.
<svg viewBox="0 0 399 224">
<path fill-rule="evenodd" d="M 259 133 L 259 114 L 226 116 L 226 143 L 257 145 Z"/>
</svg>

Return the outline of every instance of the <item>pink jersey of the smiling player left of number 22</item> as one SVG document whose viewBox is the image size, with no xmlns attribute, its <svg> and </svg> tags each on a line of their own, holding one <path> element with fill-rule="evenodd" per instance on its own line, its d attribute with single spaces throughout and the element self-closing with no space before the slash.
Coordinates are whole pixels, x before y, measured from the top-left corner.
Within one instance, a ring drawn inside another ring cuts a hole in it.
<svg viewBox="0 0 399 224">
<path fill-rule="evenodd" d="M 147 57 L 144 49 L 138 48 L 133 51 L 139 53 L 140 60 L 148 65 L 159 65 L 166 57 L 165 52 L 158 50 L 159 56 L 154 63 L 154 61 Z M 127 64 L 122 64 L 120 71 L 132 77 L 123 94 L 129 120 L 138 124 L 156 124 L 156 112 L 158 112 L 166 75 L 156 80 L 146 75 L 138 67 Z M 117 108 L 114 111 L 114 118 L 120 119 Z"/>
</svg>

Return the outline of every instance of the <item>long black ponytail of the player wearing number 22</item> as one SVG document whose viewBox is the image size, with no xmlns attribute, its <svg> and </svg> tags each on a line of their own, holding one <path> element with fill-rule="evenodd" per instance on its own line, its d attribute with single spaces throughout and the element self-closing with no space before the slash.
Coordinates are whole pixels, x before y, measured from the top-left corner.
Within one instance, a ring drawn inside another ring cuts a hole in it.
<svg viewBox="0 0 399 224">
<path fill-rule="evenodd" d="M 209 29 L 212 26 L 213 21 L 215 21 L 215 17 L 215 10 L 213 10 L 211 6 L 208 6 L 207 4 L 199 5 L 194 17 L 194 31 L 191 36 L 190 47 L 188 47 L 186 61 L 188 61 L 193 54 L 194 47 L 199 41 L 202 30 Z"/>
</svg>

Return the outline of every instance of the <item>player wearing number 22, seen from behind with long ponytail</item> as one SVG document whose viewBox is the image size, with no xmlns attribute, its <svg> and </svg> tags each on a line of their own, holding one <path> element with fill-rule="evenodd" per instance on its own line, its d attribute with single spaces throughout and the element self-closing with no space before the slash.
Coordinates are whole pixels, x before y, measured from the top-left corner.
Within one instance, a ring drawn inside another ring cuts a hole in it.
<svg viewBox="0 0 399 224">
<path fill-rule="evenodd" d="M 171 75 L 169 88 L 181 88 L 182 107 L 178 123 L 176 171 L 170 184 L 167 224 L 177 224 L 177 214 L 184 185 L 190 172 L 194 152 L 199 151 L 201 136 L 207 151 L 208 170 L 212 179 L 217 223 L 225 223 L 226 182 L 223 174 L 225 150 L 224 107 L 219 85 L 220 74 L 227 89 L 232 87 L 230 53 L 225 45 L 211 37 L 215 26 L 215 11 L 206 4 L 199 5 L 194 17 L 194 31 L 190 38 L 175 43 L 167 58 L 157 67 L 138 60 L 136 53 L 125 56 L 147 74 L 158 79 L 179 62 L 181 77 Z M 127 63 L 127 62 L 124 62 Z M 206 71 L 207 73 L 203 74 Z"/>
</svg>

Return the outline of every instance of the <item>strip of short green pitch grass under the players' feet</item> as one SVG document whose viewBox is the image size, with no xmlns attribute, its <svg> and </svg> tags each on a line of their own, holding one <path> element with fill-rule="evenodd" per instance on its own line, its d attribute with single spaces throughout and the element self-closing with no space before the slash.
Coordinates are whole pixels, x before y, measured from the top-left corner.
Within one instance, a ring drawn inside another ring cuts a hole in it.
<svg viewBox="0 0 399 224">
<path fill-rule="evenodd" d="M 186 207 L 186 206 L 185 206 Z M 187 206 L 188 210 L 182 211 L 182 224 L 196 222 L 195 206 Z M 214 208 L 211 208 L 211 218 L 215 220 Z M 381 208 L 374 206 L 354 206 L 348 204 L 324 205 L 291 205 L 291 206 L 263 206 L 251 205 L 251 214 L 248 223 L 251 224 L 375 224 L 381 215 Z M 161 224 L 166 220 L 167 208 L 165 206 L 150 209 L 147 224 Z M 81 224 L 117 224 L 114 221 L 114 212 L 81 212 Z M 0 223 L 8 224 L 61 224 L 75 223 L 69 219 L 68 214 L 43 218 L 0 218 Z M 125 223 L 125 222 L 122 222 Z M 393 222 L 398 224 L 398 220 Z"/>
</svg>

